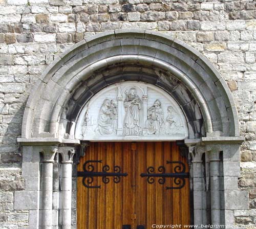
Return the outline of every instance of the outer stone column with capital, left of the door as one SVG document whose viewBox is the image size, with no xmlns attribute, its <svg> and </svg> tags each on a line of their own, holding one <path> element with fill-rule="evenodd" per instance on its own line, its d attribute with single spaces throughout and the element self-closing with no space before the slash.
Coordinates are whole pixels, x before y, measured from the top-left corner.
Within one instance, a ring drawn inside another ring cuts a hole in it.
<svg viewBox="0 0 256 229">
<path fill-rule="evenodd" d="M 42 228 L 52 228 L 52 200 L 53 200 L 53 163 L 57 152 L 56 146 L 46 146 L 42 149 L 43 172 L 42 172 Z"/>
</svg>

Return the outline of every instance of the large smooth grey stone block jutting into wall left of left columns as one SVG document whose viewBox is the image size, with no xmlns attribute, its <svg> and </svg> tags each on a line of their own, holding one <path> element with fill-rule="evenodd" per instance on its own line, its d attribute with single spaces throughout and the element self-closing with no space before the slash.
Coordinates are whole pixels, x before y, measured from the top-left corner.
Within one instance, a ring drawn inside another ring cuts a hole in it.
<svg viewBox="0 0 256 229">
<path fill-rule="evenodd" d="M 38 191 L 15 191 L 14 210 L 36 210 L 38 209 Z"/>
</svg>

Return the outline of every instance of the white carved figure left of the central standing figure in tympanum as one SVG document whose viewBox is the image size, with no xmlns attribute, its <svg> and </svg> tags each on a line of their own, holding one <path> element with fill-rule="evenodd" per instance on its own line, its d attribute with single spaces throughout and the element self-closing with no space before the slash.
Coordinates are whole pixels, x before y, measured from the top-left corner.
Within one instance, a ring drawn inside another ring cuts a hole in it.
<svg viewBox="0 0 256 229">
<path fill-rule="evenodd" d="M 103 134 L 112 134 L 113 133 L 113 123 L 116 116 L 116 108 L 114 103 L 109 99 L 105 99 L 102 103 L 102 106 L 99 111 L 98 116 L 98 127 L 96 132 Z"/>
</svg>

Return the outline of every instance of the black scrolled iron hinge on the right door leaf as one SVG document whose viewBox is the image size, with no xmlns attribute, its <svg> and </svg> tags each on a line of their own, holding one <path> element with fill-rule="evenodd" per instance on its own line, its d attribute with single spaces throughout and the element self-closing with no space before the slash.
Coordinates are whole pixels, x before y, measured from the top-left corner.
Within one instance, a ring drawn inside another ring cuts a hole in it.
<svg viewBox="0 0 256 229">
<path fill-rule="evenodd" d="M 176 165 L 174 167 L 174 173 L 166 173 L 164 166 L 159 166 L 157 168 L 158 173 L 155 173 L 155 168 L 150 166 L 147 168 L 147 173 L 141 173 L 141 177 L 147 177 L 148 184 L 153 184 L 155 182 L 155 177 L 158 177 L 158 183 L 164 185 L 166 178 L 174 178 L 174 184 L 176 186 L 166 187 L 166 189 L 182 189 L 185 186 L 185 178 L 189 177 L 189 174 L 185 172 L 186 167 L 182 162 L 170 162 L 166 161 L 166 164 Z"/>
</svg>

